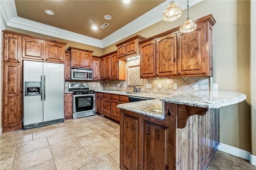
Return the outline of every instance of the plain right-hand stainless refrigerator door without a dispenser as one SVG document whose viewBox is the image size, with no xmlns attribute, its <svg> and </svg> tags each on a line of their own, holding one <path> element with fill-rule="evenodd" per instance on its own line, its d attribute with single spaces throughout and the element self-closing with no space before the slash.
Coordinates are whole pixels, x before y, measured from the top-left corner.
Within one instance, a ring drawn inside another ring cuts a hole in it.
<svg viewBox="0 0 256 170">
<path fill-rule="evenodd" d="M 44 76 L 44 121 L 62 119 L 64 118 L 64 64 L 44 63 Z"/>
</svg>

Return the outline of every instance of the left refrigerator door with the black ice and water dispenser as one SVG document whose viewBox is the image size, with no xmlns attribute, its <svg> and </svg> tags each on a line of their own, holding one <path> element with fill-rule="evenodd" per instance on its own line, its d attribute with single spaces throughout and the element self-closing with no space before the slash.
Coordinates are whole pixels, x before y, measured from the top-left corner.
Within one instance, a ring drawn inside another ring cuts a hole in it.
<svg viewBox="0 0 256 170">
<path fill-rule="evenodd" d="M 24 94 L 25 82 L 40 82 L 42 75 L 43 75 L 42 62 L 23 61 L 24 125 L 30 125 L 33 123 L 39 123 L 43 121 L 43 101 L 41 101 L 41 96 L 25 96 Z"/>
</svg>

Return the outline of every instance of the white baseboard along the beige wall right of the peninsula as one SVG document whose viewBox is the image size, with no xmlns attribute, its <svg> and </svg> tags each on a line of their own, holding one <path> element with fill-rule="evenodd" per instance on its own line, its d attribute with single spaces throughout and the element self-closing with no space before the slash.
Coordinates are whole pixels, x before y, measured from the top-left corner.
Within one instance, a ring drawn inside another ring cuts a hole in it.
<svg viewBox="0 0 256 170">
<path fill-rule="evenodd" d="M 246 150 L 242 150 L 242 149 L 239 149 L 239 148 L 236 148 L 236 147 L 232 147 L 232 146 L 226 145 L 224 143 L 220 143 L 220 145 L 218 146 L 218 150 L 226 152 L 228 154 L 232 154 L 232 155 L 237 156 L 239 158 L 250 160 L 251 152 L 248 152 Z"/>
</svg>

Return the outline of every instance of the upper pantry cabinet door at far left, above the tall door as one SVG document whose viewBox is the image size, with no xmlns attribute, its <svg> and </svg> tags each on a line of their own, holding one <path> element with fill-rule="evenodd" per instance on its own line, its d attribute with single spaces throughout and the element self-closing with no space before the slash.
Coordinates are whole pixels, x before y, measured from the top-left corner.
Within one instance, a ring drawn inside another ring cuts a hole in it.
<svg viewBox="0 0 256 170">
<path fill-rule="evenodd" d="M 4 61 L 20 63 L 21 37 L 18 35 L 4 34 Z"/>
</svg>

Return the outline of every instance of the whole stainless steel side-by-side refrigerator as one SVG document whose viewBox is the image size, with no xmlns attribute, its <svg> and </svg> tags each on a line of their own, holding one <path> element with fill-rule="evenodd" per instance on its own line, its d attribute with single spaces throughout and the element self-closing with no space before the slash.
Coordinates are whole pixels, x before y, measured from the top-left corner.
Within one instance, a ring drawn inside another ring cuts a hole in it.
<svg viewBox="0 0 256 170">
<path fill-rule="evenodd" d="M 64 121 L 64 64 L 23 61 L 24 129 Z"/>
</svg>

